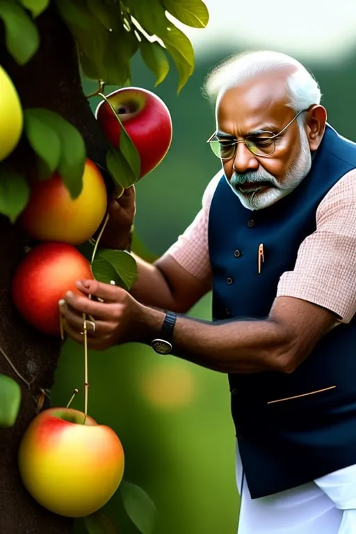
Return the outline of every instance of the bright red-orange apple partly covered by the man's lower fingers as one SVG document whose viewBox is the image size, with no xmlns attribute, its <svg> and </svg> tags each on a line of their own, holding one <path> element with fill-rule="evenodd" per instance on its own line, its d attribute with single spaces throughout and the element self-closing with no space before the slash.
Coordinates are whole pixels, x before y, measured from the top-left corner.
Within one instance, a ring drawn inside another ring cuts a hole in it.
<svg viewBox="0 0 356 534">
<path fill-rule="evenodd" d="M 26 254 L 13 276 L 13 303 L 24 320 L 44 334 L 60 335 L 58 300 L 75 282 L 93 278 L 89 261 L 73 245 L 40 243 Z"/>
</svg>

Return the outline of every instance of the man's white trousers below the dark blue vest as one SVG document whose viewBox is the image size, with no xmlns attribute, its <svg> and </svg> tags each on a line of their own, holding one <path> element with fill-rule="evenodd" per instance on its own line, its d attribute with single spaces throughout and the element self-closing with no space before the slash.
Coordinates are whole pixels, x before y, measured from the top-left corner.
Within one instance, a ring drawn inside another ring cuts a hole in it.
<svg viewBox="0 0 356 534">
<path fill-rule="evenodd" d="M 356 465 L 251 499 L 236 444 L 236 483 L 242 493 L 238 534 L 356 534 Z"/>
</svg>

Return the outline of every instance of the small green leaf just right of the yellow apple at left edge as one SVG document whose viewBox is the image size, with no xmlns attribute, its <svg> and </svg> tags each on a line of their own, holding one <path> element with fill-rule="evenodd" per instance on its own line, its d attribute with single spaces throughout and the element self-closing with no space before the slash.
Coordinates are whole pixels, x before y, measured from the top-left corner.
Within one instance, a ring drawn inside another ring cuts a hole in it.
<svg viewBox="0 0 356 534">
<path fill-rule="evenodd" d="M 58 133 L 47 124 L 42 110 L 24 110 L 24 131 L 33 150 L 53 173 L 60 161 L 60 138 Z"/>
</svg>

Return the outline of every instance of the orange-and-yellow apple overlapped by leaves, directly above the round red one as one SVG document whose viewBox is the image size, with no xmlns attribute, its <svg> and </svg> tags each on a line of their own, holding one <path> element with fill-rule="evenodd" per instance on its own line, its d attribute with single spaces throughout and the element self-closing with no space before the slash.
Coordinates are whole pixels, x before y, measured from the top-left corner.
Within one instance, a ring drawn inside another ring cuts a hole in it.
<svg viewBox="0 0 356 534">
<path fill-rule="evenodd" d="M 30 191 L 29 202 L 19 223 L 38 241 L 81 245 L 96 232 L 106 213 L 104 178 L 90 159 L 86 159 L 83 188 L 75 199 L 70 196 L 58 172 L 47 180 L 31 180 Z"/>
</svg>

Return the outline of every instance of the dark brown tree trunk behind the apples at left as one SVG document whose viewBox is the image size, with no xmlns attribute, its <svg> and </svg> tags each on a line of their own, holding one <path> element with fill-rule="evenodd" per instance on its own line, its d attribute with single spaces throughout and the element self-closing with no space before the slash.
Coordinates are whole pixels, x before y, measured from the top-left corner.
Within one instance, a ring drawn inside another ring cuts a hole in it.
<svg viewBox="0 0 356 534">
<path fill-rule="evenodd" d="M 76 47 L 53 3 L 37 19 L 40 50 L 26 65 L 19 66 L 6 53 L 0 28 L 0 64 L 15 83 L 22 106 L 56 111 L 81 131 L 88 157 L 105 165 L 106 141 L 99 131 L 83 95 Z M 20 143 L 15 161 L 29 161 Z M 26 163 L 29 165 L 29 163 Z M 29 244 L 26 236 L 7 218 L 0 216 L 0 347 L 17 367 L 29 387 L 13 372 L 0 353 L 0 373 L 13 377 L 22 387 L 22 405 L 15 426 L 0 429 L 0 533 L 66 534 L 72 520 L 48 512 L 26 492 L 17 469 L 19 440 L 38 413 L 35 397 L 40 388 L 51 389 L 60 354 L 60 340 L 47 337 L 26 325 L 13 308 L 10 287 L 14 270 Z M 69 391 L 70 394 L 70 391 Z"/>
</svg>

